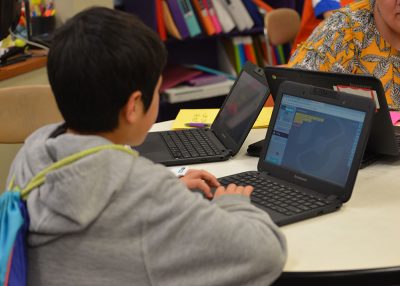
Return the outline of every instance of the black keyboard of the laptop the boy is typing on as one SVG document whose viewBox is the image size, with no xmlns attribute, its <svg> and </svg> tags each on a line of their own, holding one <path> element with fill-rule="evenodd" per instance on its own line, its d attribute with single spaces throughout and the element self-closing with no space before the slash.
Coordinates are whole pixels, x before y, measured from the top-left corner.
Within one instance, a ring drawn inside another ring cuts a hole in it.
<svg viewBox="0 0 400 286">
<path fill-rule="evenodd" d="M 252 185 L 251 202 L 284 215 L 293 215 L 323 207 L 329 203 L 316 196 L 257 176 L 255 172 L 245 172 L 219 179 L 222 185 Z"/>
</svg>

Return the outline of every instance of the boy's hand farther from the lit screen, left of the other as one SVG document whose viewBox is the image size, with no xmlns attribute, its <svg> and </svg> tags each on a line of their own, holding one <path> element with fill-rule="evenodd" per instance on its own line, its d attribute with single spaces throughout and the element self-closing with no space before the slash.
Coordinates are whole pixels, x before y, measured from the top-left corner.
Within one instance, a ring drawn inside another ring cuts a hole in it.
<svg viewBox="0 0 400 286">
<path fill-rule="evenodd" d="M 214 175 L 204 170 L 190 169 L 180 180 L 189 189 L 199 189 L 202 191 L 208 199 L 213 197 L 211 188 L 216 188 L 221 185 Z"/>
</svg>

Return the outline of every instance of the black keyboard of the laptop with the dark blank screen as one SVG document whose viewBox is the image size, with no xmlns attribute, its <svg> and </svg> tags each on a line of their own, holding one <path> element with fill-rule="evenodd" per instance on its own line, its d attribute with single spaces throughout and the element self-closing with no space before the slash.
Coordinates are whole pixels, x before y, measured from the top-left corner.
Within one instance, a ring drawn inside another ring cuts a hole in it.
<svg viewBox="0 0 400 286">
<path fill-rule="evenodd" d="M 162 132 L 162 137 L 176 159 L 220 155 L 210 138 L 201 129 L 184 129 Z"/>
</svg>

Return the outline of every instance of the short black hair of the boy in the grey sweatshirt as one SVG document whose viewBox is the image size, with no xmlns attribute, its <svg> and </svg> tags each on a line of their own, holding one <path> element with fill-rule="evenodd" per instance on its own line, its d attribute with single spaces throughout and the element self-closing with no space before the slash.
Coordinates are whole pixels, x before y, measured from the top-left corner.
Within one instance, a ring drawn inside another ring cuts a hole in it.
<svg viewBox="0 0 400 286">
<path fill-rule="evenodd" d="M 142 92 L 148 110 L 166 60 L 158 35 L 136 16 L 95 7 L 55 31 L 47 72 L 67 127 L 106 132 L 132 92 Z"/>
</svg>

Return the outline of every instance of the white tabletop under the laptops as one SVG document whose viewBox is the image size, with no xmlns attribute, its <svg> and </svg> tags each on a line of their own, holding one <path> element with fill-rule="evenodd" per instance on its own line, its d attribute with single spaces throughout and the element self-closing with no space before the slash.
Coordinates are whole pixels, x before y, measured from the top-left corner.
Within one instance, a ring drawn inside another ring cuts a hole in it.
<svg viewBox="0 0 400 286">
<path fill-rule="evenodd" d="M 170 129 L 172 121 L 152 131 Z M 191 165 L 217 177 L 256 170 L 247 146 L 265 137 L 253 129 L 229 161 Z M 397 177 L 399 176 L 399 177 Z M 351 199 L 330 214 L 282 227 L 288 242 L 285 271 L 354 270 L 400 265 L 400 160 L 359 171 Z"/>
</svg>

